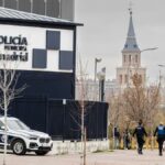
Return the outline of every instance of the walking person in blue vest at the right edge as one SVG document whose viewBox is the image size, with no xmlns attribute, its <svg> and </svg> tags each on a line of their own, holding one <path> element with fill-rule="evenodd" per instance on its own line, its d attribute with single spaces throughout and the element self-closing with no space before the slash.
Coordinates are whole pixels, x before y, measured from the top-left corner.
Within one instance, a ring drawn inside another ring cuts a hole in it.
<svg viewBox="0 0 165 165">
<path fill-rule="evenodd" d="M 163 125 L 163 122 L 160 122 L 160 125 L 155 129 L 154 136 L 155 135 L 157 135 L 160 156 L 162 156 L 163 142 L 165 140 L 165 127 Z"/>
</svg>

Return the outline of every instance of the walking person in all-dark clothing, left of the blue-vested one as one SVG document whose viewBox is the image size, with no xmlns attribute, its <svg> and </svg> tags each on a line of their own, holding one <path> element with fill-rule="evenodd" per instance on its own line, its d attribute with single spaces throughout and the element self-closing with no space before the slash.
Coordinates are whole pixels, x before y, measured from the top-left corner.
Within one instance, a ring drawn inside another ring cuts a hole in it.
<svg viewBox="0 0 165 165">
<path fill-rule="evenodd" d="M 138 141 L 138 153 L 143 154 L 143 144 L 144 144 L 144 135 L 147 136 L 144 127 L 142 125 L 142 120 L 139 121 L 139 125 L 135 128 L 133 132 L 133 136 L 136 135 Z"/>
</svg>

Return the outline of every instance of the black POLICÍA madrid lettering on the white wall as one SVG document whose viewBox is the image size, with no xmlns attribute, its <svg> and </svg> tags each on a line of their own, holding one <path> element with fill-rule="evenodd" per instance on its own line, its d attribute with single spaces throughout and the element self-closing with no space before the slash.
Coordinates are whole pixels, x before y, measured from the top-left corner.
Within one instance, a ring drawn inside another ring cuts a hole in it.
<svg viewBox="0 0 165 165">
<path fill-rule="evenodd" d="M 0 35 L 0 46 L 3 46 L 3 53 L 0 52 L 0 61 L 21 61 L 28 62 L 28 40 L 19 36 Z"/>
</svg>

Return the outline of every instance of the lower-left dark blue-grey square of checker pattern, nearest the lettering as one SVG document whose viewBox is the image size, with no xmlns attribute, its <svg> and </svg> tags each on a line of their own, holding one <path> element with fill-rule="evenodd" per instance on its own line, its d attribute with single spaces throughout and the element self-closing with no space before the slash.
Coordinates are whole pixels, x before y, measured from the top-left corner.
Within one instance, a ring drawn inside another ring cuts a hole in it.
<svg viewBox="0 0 165 165">
<path fill-rule="evenodd" d="M 33 50 L 33 68 L 46 68 L 47 55 L 45 50 Z"/>
</svg>

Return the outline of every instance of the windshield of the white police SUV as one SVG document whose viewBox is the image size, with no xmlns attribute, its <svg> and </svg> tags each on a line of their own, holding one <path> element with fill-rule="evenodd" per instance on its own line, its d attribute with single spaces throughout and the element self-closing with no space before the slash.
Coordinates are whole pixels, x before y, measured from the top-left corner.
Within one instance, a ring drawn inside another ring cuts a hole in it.
<svg viewBox="0 0 165 165">
<path fill-rule="evenodd" d="M 11 130 L 30 130 L 30 128 L 20 120 L 8 120 L 7 123 Z"/>
</svg>

